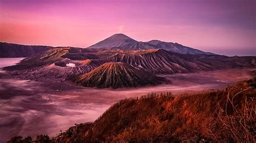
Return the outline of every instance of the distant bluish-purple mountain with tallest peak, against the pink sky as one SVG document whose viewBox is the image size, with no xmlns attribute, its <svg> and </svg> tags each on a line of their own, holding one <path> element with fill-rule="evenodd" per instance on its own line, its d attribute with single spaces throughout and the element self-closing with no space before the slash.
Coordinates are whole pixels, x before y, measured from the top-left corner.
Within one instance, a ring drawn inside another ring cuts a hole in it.
<svg viewBox="0 0 256 143">
<path fill-rule="evenodd" d="M 114 34 L 87 48 L 118 48 L 118 49 L 165 49 L 180 54 L 207 54 L 216 55 L 210 52 L 203 52 L 198 49 L 186 47 L 178 43 L 151 40 L 147 42 L 136 41 L 124 34 Z"/>
</svg>

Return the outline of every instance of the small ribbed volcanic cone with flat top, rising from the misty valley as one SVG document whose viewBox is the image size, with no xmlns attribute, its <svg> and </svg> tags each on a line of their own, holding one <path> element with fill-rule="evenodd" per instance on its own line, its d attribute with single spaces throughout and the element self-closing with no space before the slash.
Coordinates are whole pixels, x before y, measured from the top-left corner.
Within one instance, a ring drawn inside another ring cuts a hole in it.
<svg viewBox="0 0 256 143">
<path fill-rule="evenodd" d="M 122 62 L 107 62 L 89 73 L 76 76 L 72 81 L 84 87 L 124 88 L 155 85 L 164 81 L 146 71 Z"/>
</svg>

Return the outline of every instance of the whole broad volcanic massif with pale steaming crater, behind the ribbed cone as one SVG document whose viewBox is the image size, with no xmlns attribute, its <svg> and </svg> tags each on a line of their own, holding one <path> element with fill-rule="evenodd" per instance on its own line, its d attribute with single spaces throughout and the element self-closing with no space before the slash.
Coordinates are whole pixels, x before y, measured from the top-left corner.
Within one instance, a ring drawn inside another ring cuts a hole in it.
<svg viewBox="0 0 256 143">
<path fill-rule="evenodd" d="M 184 55 L 164 49 L 55 48 L 5 67 L 10 78 L 48 81 L 89 73 L 106 62 L 123 62 L 151 74 L 193 73 L 231 68 L 254 68 L 255 56 Z M 72 63 L 73 67 L 67 66 Z"/>
</svg>

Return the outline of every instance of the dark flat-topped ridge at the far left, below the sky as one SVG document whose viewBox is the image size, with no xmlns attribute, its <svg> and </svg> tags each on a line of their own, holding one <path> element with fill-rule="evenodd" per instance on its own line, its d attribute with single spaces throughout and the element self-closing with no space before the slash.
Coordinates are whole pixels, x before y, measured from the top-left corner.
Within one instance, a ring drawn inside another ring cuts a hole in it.
<svg viewBox="0 0 256 143">
<path fill-rule="evenodd" d="M 52 48 L 50 46 L 26 46 L 0 42 L 0 58 L 28 57 Z"/>
</svg>

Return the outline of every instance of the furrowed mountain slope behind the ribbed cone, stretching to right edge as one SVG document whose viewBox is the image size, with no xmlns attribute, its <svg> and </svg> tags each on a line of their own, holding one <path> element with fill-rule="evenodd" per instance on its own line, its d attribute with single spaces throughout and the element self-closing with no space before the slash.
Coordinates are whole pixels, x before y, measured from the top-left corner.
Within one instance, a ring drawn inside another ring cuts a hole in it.
<svg viewBox="0 0 256 143">
<path fill-rule="evenodd" d="M 164 49 L 146 49 L 126 53 L 117 52 L 107 58 L 93 60 L 93 63 L 124 62 L 154 74 L 192 73 L 252 67 L 256 64 L 255 57 L 239 57 L 238 59 L 220 55 L 184 55 Z"/>
</svg>

